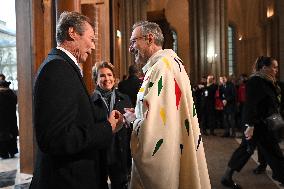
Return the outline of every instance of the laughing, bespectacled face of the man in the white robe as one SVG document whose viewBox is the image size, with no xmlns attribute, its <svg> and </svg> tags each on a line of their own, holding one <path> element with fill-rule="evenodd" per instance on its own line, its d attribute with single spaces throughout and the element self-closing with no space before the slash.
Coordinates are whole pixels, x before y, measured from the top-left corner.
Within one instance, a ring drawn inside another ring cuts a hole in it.
<svg viewBox="0 0 284 189">
<path fill-rule="evenodd" d="M 147 36 L 142 35 L 141 26 L 136 27 L 132 31 L 129 52 L 134 54 L 136 63 L 145 64 L 150 58 Z"/>
</svg>

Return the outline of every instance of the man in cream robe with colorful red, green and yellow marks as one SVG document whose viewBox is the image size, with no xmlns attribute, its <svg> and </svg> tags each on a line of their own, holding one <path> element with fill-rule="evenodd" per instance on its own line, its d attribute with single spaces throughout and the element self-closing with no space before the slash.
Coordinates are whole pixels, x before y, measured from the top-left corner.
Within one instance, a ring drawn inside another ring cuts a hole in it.
<svg viewBox="0 0 284 189">
<path fill-rule="evenodd" d="M 209 189 L 210 181 L 189 77 L 182 60 L 162 49 L 160 27 L 133 25 L 130 52 L 145 74 L 133 121 L 131 189 Z M 130 119 L 131 118 L 131 119 Z"/>
</svg>

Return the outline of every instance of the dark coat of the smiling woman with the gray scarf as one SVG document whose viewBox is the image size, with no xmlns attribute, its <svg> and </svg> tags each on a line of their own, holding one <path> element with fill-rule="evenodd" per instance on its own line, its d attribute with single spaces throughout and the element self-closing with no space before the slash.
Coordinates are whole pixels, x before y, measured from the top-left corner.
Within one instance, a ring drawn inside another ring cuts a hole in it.
<svg viewBox="0 0 284 189">
<path fill-rule="evenodd" d="M 113 109 L 124 114 L 124 108 L 132 107 L 131 101 L 127 95 L 120 93 L 118 90 L 115 90 L 115 94 L 116 98 Z M 94 93 L 92 95 L 92 100 L 96 109 L 97 118 L 101 121 L 106 120 L 108 117 L 108 109 L 103 102 L 102 97 L 99 94 Z M 104 163 L 101 166 L 103 170 L 106 171 L 107 166 L 112 166 L 109 170 L 114 171 L 115 174 L 119 173 L 119 177 L 124 176 L 127 179 L 128 171 L 131 166 L 130 135 L 131 129 L 126 127 L 123 127 L 114 134 L 110 148 L 101 151 L 101 157 L 104 159 Z M 116 170 L 116 168 L 118 168 L 118 170 Z"/>
</svg>

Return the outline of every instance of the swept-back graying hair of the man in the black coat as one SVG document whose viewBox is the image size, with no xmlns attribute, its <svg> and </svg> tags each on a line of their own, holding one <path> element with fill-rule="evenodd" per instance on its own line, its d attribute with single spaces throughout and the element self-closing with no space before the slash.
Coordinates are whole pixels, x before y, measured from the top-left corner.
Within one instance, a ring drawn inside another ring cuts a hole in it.
<svg viewBox="0 0 284 189">
<path fill-rule="evenodd" d="M 63 13 L 61 13 L 58 24 L 56 26 L 57 44 L 70 39 L 70 36 L 68 34 L 68 29 L 70 27 L 73 27 L 79 35 L 83 35 L 85 31 L 84 24 L 86 22 L 92 25 L 90 19 L 87 16 L 84 16 L 78 12 L 64 11 Z"/>
</svg>

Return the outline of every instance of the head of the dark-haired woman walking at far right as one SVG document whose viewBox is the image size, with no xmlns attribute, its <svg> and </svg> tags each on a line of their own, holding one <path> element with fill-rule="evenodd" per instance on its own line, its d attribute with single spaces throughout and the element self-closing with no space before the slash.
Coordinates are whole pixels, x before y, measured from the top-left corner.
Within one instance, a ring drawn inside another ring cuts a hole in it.
<svg viewBox="0 0 284 189">
<path fill-rule="evenodd" d="M 272 57 L 260 56 L 254 64 L 254 71 L 262 72 L 275 79 L 278 72 L 278 62 Z"/>
</svg>

